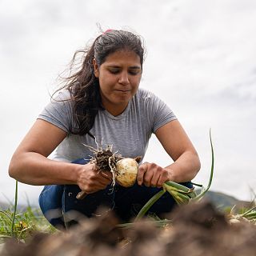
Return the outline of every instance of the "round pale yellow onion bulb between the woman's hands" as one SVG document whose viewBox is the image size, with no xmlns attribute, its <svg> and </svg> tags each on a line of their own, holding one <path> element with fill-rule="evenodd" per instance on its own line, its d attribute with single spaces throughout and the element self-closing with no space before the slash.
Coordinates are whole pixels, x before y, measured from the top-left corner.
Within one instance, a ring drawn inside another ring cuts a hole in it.
<svg viewBox="0 0 256 256">
<path fill-rule="evenodd" d="M 137 179 L 138 162 L 134 158 L 123 158 L 117 162 L 115 179 L 121 186 L 133 186 Z"/>
</svg>

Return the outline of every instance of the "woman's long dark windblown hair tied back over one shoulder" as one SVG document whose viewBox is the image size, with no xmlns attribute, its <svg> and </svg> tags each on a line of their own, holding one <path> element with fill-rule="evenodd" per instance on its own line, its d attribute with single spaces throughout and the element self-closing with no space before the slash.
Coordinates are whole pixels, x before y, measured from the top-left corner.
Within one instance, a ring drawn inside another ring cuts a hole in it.
<svg viewBox="0 0 256 256">
<path fill-rule="evenodd" d="M 98 110 L 103 109 L 98 78 L 94 76 L 93 59 L 95 58 L 98 66 L 101 66 L 109 54 L 118 50 L 134 51 L 138 54 L 142 65 L 144 61 L 142 40 L 138 35 L 125 30 L 107 30 L 94 40 L 89 50 L 75 52 L 70 70 L 76 65 L 75 61 L 79 54 L 82 54 L 82 64 L 74 74 L 65 78 L 66 85 L 61 88 L 70 90 L 71 100 L 74 102 L 73 116 L 78 129 L 74 130 L 72 127 L 71 134 L 90 134 Z"/>
</svg>

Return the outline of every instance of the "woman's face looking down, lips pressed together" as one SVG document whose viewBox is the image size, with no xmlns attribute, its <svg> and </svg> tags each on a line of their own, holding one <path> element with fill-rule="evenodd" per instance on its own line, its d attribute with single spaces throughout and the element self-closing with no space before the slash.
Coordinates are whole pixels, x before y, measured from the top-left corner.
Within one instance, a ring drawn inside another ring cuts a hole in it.
<svg viewBox="0 0 256 256">
<path fill-rule="evenodd" d="M 94 75 L 99 81 L 102 105 L 110 114 L 122 114 L 142 78 L 140 58 L 133 51 L 118 50 L 101 66 L 94 60 Z"/>
</svg>

